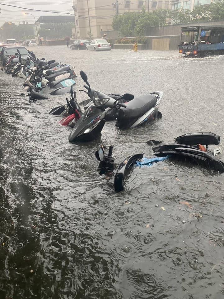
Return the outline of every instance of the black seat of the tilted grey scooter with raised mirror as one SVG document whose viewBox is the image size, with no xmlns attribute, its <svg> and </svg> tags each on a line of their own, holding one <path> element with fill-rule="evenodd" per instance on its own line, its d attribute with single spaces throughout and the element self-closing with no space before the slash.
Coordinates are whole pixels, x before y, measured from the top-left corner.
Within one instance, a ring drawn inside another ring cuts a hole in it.
<svg viewBox="0 0 224 299">
<path fill-rule="evenodd" d="M 135 97 L 126 103 L 126 108 L 121 107 L 117 113 L 117 118 L 137 118 L 141 117 L 151 108 L 155 107 L 157 99 L 152 94 L 145 94 L 141 97 Z"/>
</svg>

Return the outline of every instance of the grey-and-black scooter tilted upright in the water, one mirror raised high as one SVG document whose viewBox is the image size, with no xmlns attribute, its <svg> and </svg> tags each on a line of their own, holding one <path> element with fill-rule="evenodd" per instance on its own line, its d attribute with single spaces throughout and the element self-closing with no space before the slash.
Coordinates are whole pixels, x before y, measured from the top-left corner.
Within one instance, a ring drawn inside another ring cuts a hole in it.
<svg viewBox="0 0 224 299">
<path fill-rule="evenodd" d="M 116 126 L 122 129 L 141 126 L 147 121 L 152 121 L 158 117 L 158 107 L 163 97 L 163 92 L 158 91 L 137 98 L 126 93 L 122 99 L 128 103 L 122 104 L 118 100 L 114 101 L 109 95 L 92 89 L 87 81 L 86 74 L 83 71 L 80 74 L 83 81 L 87 84 L 84 87 L 87 89 L 88 96 L 93 101 L 93 104 L 86 109 L 86 112 L 73 128 L 68 138 L 70 142 L 96 139 L 105 124 L 106 108 L 119 108 L 116 114 Z M 126 107 L 128 107 L 127 112 L 125 112 Z"/>
</svg>

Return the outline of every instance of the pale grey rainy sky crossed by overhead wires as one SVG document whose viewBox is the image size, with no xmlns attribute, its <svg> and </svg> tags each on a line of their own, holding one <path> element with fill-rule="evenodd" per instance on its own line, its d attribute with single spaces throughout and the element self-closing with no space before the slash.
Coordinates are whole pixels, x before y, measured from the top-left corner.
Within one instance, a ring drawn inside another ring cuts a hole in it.
<svg viewBox="0 0 224 299">
<path fill-rule="evenodd" d="M 40 10 L 49 10 L 49 11 L 58 11 L 58 12 L 67 12 L 67 13 L 74 13 L 72 9 L 73 1 L 72 0 L 0 0 L 0 3 L 27 7 L 32 9 L 40 9 Z M 32 13 L 36 20 L 41 15 L 57 15 L 54 13 L 49 12 L 35 12 L 35 11 L 28 11 L 21 8 L 10 7 L 1 5 L 1 14 L 0 14 L 0 26 L 5 22 L 13 22 L 16 24 L 22 23 L 22 21 L 28 21 L 29 24 L 34 23 L 34 18 L 30 15 L 24 15 L 23 12 L 30 12 Z"/>
</svg>

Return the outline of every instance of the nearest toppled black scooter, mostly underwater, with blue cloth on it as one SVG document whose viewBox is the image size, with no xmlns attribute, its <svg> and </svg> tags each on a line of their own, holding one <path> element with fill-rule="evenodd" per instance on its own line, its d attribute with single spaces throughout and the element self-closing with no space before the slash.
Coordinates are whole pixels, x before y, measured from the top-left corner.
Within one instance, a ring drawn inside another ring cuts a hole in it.
<svg viewBox="0 0 224 299">
<path fill-rule="evenodd" d="M 219 145 L 220 136 L 210 132 L 199 132 L 184 134 L 175 138 L 174 143 L 164 143 L 161 140 L 149 140 L 148 145 L 153 145 L 155 152 L 153 158 L 143 158 L 143 153 L 126 157 L 114 171 L 113 147 L 110 146 L 109 153 L 105 154 L 103 145 L 96 151 L 96 159 L 100 161 L 98 172 L 100 175 L 107 174 L 107 177 L 114 176 L 114 189 L 120 192 L 124 189 L 125 178 L 136 166 L 152 166 L 160 161 L 178 159 L 184 164 L 194 164 L 205 167 L 214 172 L 224 173 L 224 162 L 217 159 L 217 155 L 222 153 L 222 148 L 214 149 L 212 154 L 208 151 L 208 145 Z M 206 145 L 204 147 L 203 145 Z M 142 159 L 143 158 L 143 159 Z"/>
</svg>

